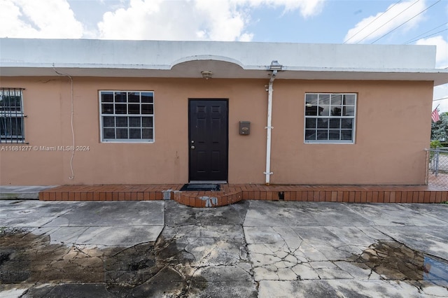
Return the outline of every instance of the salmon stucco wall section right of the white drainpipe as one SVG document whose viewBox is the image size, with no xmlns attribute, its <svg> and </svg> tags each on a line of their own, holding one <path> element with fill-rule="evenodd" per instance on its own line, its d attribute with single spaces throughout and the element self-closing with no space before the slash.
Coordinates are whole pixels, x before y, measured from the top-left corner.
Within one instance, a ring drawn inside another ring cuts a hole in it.
<svg viewBox="0 0 448 298">
<path fill-rule="evenodd" d="M 354 144 L 304 143 L 305 92 L 358 94 Z M 276 81 L 272 183 L 424 184 L 432 92 L 430 82 Z"/>
</svg>

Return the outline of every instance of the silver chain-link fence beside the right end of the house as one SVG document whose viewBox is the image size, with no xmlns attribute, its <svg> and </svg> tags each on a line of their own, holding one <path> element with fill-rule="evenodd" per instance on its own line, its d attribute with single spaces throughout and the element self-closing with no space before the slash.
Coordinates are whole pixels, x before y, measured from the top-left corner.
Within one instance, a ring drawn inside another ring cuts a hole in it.
<svg viewBox="0 0 448 298">
<path fill-rule="evenodd" d="M 426 150 L 428 185 L 447 187 L 448 189 L 448 148 Z"/>
</svg>

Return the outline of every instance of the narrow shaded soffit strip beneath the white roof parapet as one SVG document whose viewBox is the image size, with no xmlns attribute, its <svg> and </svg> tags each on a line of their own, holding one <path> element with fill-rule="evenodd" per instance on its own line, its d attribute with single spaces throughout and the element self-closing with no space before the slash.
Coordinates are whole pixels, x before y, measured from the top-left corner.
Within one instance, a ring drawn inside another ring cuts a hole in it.
<svg viewBox="0 0 448 298">
<path fill-rule="evenodd" d="M 73 65 L 56 65 L 57 72 L 73 77 L 123 77 L 123 78 L 202 78 L 200 71 L 177 72 L 170 69 L 145 69 L 141 66 L 117 68 L 107 65 L 104 68 L 86 68 Z M 131 68 L 132 67 L 132 68 Z M 263 69 L 238 69 L 237 71 L 212 71 L 213 78 L 261 78 L 267 79 L 269 71 Z M 0 76 L 57 76 L 52 66 L 48 67 L 0 67 Z M 421 80 L 433 81 L 435 86 L 448 83 L 447 69 L 328 69 L 295 68 L 279 71 L 276 80 Z"/>
</svg>

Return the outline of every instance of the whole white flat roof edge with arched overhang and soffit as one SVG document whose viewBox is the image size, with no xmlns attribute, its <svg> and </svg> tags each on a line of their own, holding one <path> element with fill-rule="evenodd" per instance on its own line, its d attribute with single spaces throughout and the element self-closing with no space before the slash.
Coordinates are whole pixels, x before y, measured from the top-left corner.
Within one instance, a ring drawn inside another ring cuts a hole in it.
<svg viewBox="0 0 448 298">
<path fill-rule="evenodd" d="M 435 45 L 0 38 L 0 76 L 267 78 L 272 61 L 278 79 L 448 83 Z"/>
</svg>

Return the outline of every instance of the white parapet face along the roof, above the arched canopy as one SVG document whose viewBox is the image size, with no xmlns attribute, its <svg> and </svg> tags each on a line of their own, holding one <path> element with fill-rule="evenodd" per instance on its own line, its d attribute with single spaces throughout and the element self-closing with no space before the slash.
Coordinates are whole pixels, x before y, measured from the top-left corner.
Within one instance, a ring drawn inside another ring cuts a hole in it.
<svg viewBox="0 0 448 298">
<path fill-rule="evenodd" d="M 246 43 L 225 41 L 108 41 L 0 38 L 0 62 L 172 66 L 186 57 L 225 57 L 243 66 L 352 69 L 432 69 L 433 45 Z M 192 58 L 194 59 L 194 58 Z M 122 67 L 120 67 L 122 68 Z"/>
</svg>

